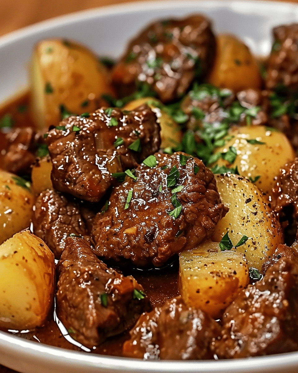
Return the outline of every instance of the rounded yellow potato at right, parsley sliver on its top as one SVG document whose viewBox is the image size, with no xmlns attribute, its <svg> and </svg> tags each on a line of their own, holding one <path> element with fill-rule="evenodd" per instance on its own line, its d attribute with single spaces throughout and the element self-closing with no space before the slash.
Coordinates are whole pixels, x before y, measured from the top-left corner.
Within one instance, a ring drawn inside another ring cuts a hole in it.
<svg viewBox="0 0 298 373">
<path fill-rule="evenodd" d="M 227 138 L 229 140 L 225 146 L 218 148 L 215 153 L 225 153 L 232 146 L 237 156 L 232 164 L 222 158 L 217 164 L 237 166 L 240 175 L 250 178 L 267 194 L 272 191 L 274 177 L 278 175 L 279 169 L 295 159 L 295 151 L 285 134 L 265 126 L 235 126 Z"/>
</svg>

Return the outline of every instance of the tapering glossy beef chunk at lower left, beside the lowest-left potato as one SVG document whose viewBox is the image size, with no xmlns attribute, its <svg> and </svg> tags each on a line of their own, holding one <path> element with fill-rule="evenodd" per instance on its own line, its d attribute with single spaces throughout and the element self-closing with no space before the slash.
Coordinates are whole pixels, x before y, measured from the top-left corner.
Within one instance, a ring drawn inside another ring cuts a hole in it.
<svg viewBox="0 0 298 373">
<path fill-rule="evenodd" d="M 58 318 L 87 347 L 129 329 L 150 310 L 142 286 L 108 268 L 86 239 L 66 238 L 57 275 Z"/>
</svg>

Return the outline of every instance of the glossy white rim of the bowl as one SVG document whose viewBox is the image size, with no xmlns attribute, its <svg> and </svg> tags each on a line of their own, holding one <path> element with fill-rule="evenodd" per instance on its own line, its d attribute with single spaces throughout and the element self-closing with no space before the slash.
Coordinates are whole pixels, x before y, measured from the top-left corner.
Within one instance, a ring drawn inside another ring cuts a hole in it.
<svg viewBox="0 0 298 373">
<path fill-rule="evenodd" d="M 49 31 L 57 26 L 70 25 L 74 22 L 87 21 L 88 19 L 95 19 L 110 15 L 117 15 L 119 13 L 137 13 L 142 10 L 158 10 L 170 8 L 180 8 L 181 6 L 191 7 L 197 6 L 197 0 L 151 0 L 151 1 L 133 1 L 130 3 L 120 3 L 109 6 L 95 7 L 88 10 L 73 12 L 67 15 L 62 15 L 41 21 L 33 25 L 25 26 L 16 31 L 9 32 L 0 37 L 1 48 L 23 38 L 38 34 L 41 31 Z M 289 3 L 284 1 L 268 1 L 268 0 L 200 0 L 202 6 L 211 8 L 229 8 L 245 6 L 248 9 L 266 8 L 268 4 L 274 7 L 276 11 L 294 12 L 298 19 L 298 3 Z M 134 358 L 114 357 L 110 355 L 99 355 L 81 351 L 72 351 L 60 347 L 53 347 L 50 345 L 29 341 L 18 336 L 11 335 L 7 332 L 0 331 L 0 349 L 8 348 L 9 351 L 17 354 L 18 357 L 25 357 L 30 355 L 35 361 L 41 358 L 44 364 L 54 364 L 57 366 L 65 366 L 66 369 L 75 367 L 78 363 L 81 368 L 102 368 L 105 372 L 114 372 L 120 370 L 121 372 L 239 372 L 250 373 L 254 372 L 281 372 L 282 369 L 297 369 L 298 367 L 298 351 L 287 352 L 285 354 L 264 355 L 253 358 L 240 358 L 230 360 L 192 360 L 192 361 L 170 361 L 170 360 L 152 360 L 144 361 Z M 42 356 L 41 356 L 42 355 Z M 82 358 L 84 360 L 82 360 Z M 141 363 L 141 364 L 140 364 Z M 71 371 L 71 369 L 70 369 Z M 103 372 L 103 371 L 102 371 Z M 294 372 L 294 370 L 293 370 Z"/>
</svg>

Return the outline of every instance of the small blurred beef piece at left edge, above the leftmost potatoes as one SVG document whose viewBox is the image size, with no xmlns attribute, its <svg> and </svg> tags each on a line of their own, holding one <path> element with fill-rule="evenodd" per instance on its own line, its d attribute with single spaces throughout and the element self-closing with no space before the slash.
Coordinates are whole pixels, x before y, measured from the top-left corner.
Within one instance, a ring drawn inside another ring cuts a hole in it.
<svg viewBox="0 0 298 373">
<path fill-rule="evenodd" d="M 35 161 L 37 145 L 43 142 L 40 134 L 32 127 L 24 127 L 10 130 L 5 137 L 7 148 L 1 167 L 20 175 L 31 173 L 30 166 Z"/>
</svg>

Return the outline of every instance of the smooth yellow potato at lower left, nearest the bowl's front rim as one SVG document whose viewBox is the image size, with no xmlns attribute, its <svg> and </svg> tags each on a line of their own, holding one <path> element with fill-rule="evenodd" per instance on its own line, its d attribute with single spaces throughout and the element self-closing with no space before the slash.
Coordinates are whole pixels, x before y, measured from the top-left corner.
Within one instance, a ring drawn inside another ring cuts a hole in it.
<svg viewBox="0 0 298 373">
<path fill-rule="evenodd" d="M 54 254 L 30 231 L 0 245 L 0 327 L 41 326 L 54 296 Z"/>
</svg>

